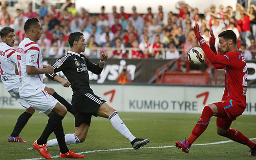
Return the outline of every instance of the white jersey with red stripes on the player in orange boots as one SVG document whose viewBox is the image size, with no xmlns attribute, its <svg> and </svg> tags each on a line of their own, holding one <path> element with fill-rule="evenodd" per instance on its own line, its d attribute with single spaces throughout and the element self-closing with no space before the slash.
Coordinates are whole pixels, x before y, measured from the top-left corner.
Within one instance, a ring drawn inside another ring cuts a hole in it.
<svg viewBox="0 0 256 160">
<path fill-rule="evenodd" d="M 27 74 L 27 65 L 42 68 L 41 50 L 36 42 L 29 38 L 25 38 L 19 43 L 16 53 L 19 75 L 21 77 L 19 96 L 21 98 L 30 97 L 37 89 L 44 89 L 44 85 L 42 84 L 42 74 Z"/>
</svg>

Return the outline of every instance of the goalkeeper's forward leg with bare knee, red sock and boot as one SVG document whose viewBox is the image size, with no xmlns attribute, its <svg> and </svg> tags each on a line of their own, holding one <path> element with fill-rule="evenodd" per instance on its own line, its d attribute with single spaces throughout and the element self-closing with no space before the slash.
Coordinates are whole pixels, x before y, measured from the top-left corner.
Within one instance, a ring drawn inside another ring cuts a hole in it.
<svg viewBox="0 0 256 160">
<path fill-rule="evenodd" d="M 187 140 L 182 142 L 175 142 L 176 147 L 181 148 L 184 153 L 188 153 L 190 146 L 199 138 L 199 136 L 206 130 L 212 116 L 216 116 L 218 113 L 217 106 L 215 104 L 209 104 L 204 107 L 202 115 L 194 127 L 192 133 Z"/>
</svg>

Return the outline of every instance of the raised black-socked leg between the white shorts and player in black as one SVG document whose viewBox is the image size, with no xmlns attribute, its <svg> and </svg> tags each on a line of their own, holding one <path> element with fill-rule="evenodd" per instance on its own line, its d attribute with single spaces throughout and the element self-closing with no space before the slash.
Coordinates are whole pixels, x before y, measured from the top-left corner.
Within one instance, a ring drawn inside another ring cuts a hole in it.
<svg viewBox="0 0 256 160">
<path fill-rule="evenodd" d="M 52 95 L 56 100 L 63 104 L 72 115 L 76 115 L 74 107 L 66 99 L 58 95 L 53 88 L 46 86 L 45 90 L 47 90 L 50 95 Z"/>
</svg>

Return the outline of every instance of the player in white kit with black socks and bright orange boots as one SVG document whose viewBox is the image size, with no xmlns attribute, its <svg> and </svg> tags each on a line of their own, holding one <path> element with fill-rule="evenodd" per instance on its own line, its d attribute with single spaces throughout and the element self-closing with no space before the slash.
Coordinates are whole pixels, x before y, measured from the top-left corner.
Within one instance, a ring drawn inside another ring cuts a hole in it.
<svg viewBox="0 0 256 160">
<path fill-rule="evenodd" d="M 42 34 L 41 24 L 37 18 L 30 18 L 25 22 L 25 39 L 16 50 L 18 70 L 21 75 L 19 96 L 40 113 L 51 116 L 40 138 L 33 143 L 33 147 L 45 158 L 51 159 L 46 148 L 47 139 L 55 133 L 60 148 L 60 157 L 83 158 L 70 151 L 65 143 L 62 119 L 67 113 L 65 106 L 48 94 L 42 84 L 42 74 L 53 73 L 53 67 L 43 67 L 42 54 L 36 43 Z"/>
</svg>

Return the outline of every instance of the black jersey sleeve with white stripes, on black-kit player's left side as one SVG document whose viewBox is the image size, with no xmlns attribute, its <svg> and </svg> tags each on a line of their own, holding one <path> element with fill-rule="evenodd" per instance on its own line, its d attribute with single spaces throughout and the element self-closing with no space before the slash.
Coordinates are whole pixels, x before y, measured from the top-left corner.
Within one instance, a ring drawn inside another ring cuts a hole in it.
<svg viewBox="0 0 256 160">
<path fill-rule="evenodd" d="M 69 56 L 65 55 L 53 64 L 54 73 L 66 70 L 67 68 L 71 67 L 71 65 L 72 63 L 70 62 Z"/>
</svg>

